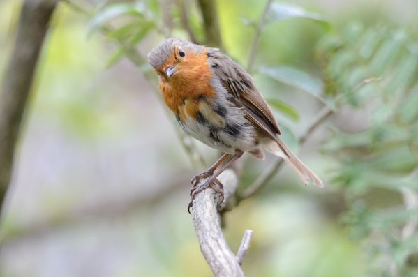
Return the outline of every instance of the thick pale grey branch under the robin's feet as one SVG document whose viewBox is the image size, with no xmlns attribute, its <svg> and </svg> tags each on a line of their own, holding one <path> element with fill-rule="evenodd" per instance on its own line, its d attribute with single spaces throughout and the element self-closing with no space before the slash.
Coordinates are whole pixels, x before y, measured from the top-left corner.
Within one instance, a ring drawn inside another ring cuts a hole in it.
<svg viewBox="0 0 418 277">
<path fill-rule="evenodd" d="M 219 181 L 226 191 L 237 189 L 237 177 L 232 170 L 225 170 L 219 177 Z M 205 179 L 202 179 L 205 181 Z M 225 193 L 225 202 L 227 202 Z M 221 221 L 216 210 L 214 190 L 206 189 L 199 193 L 193 201 L 192 208 L 195 232 L 200 243 L 200 250 L 204 259 L 209 264 L 216 277 L 241 277 L 244 272 L 239 267 L 239 260 L 227 245 L 221 230 Z"/>
</svg>

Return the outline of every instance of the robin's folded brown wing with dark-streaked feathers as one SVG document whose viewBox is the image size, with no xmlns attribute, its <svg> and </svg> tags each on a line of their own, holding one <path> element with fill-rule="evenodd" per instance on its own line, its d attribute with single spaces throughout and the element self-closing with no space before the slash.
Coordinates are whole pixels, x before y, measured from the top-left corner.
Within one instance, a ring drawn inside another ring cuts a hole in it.
<svg viewBox="0 0 418 277">
<path fill-rule="evenodd" d="M 244 106 L 246 118 L 264 135 L 275 140 L 276 134 L 281 133 L 280 129 L 269 105 L 255 87 L 251 75 L 230 57 L 214 48 L 209 49 L 207 57 L 209 66 L 216 77 L 234 96 L 234 102 L 239 106 Z"/>
</svg>

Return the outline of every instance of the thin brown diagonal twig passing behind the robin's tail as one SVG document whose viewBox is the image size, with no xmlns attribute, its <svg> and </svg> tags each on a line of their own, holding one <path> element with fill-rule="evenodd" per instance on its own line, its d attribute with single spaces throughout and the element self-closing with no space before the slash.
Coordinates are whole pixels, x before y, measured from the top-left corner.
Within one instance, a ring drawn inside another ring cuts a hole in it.
<svg viewBox="0 0 418 277">
<path fill-rule="evenodd" d="M 299 144 L 304 144 L 308 137 L 312 135 L 313 131 L 316 130 L 316 128 L 318 128 L 318 126 L 320 126 L 332 113 L 333 110 L 331 110 L 331 108 L 329 108 L 328 106 L 323 107 L 322 110 L 318 112 L 318 115 L 313 120 L 311 125 L 308 128 L 306 128 L 305 132 L 299 137 Z M 241 202 L 241 200 L 255 195 L 255 193 L 257 193 L 261 188 L 263 188 L 267 184 L 267 182 L 270 181 L 272 177 L 274 177 L 274 175 L 277 173 L 278 169 L 281 167 L 282 164 L 283 159 L 277 158 L 277 160 L 274 162 L 273 165 L 271 165 L 271 167 L 269 167 L 268 170 L 264 171 L 257 179 L 255 179 L 254 183 L 251 184 L 251 186 L 249 186 L 246 190 L 244 190 L 244 192 L 241 195 L 239 195 L 237 201 Z"/>
</svg>

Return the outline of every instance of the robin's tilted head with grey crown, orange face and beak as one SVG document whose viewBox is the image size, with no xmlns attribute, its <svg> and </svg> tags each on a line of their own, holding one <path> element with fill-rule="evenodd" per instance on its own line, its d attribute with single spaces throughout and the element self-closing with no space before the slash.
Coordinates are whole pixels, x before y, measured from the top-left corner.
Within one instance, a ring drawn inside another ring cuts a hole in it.
<svg viewBox="0 0 418 277">
<path fill-rule="evenodd" d="M 191 81 L 206 64 L 206 48 L 178 38 L 167 38 L 148 54 L 148 62 L 160 81 Z"/>
</svg>

